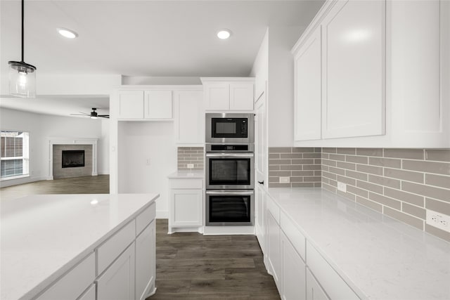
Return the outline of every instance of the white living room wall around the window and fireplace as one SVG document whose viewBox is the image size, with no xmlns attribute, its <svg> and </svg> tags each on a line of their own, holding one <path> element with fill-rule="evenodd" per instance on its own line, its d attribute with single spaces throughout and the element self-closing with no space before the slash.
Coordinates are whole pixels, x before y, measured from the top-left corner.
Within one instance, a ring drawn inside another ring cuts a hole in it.
<svg viewBox="0 0 450 300">
<path fill-rule="evenodd" d="M 0 109 L 0 129 L 30 132 L 30 177 L 1 181 L 1 187 L 46 179 L 49 174 L 49 137 L 99 138 L 98 141 L 103 143 L 101 138 L 108 136 L 102 131 L 99 119 L 40 115 L 7 108 Z M 99 147 L 98 157 L 102 157 L 101 169 L 109 170 L 108 148 Z"/>
</svg>

